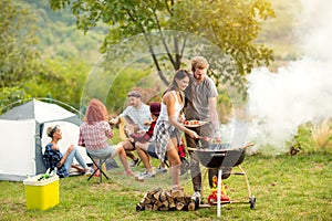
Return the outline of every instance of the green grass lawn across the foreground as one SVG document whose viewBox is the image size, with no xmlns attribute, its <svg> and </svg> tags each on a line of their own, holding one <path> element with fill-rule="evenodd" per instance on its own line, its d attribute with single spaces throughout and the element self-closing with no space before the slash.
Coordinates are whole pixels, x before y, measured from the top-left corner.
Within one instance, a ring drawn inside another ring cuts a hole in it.
<svg viewBox="0 0 332 221">
<path fill-rule="evenodd" d="M 222 220 L 332 220 L 332 162 L 329 154 L 297 156 L 248 156 L 242 162 L 257 202 L 225 204 Z M 143 168 L 137 168 L 143 170 Z M 234 170 L 236 170 L 235 168 Z M 135 206 L 155 187 L 169 187 L 167 175 L 137 182 L 107 171 L 111 180 L 72 177 L 60 180 L 60 203 L 49 210 L 27 210 L 22 182 L 0 182 L 0 220 L 217 220 L 216 207 L 196 211 L 141 211 Z M 189 176 L 181 177 L 191 194 Z M 243 176 L 225 180 L 231 199 L 247 201 Z M 207 181 L 205 179 L 205 187 Z M 205 188 L 205 197 L 209 190 Z"/>
</svg>

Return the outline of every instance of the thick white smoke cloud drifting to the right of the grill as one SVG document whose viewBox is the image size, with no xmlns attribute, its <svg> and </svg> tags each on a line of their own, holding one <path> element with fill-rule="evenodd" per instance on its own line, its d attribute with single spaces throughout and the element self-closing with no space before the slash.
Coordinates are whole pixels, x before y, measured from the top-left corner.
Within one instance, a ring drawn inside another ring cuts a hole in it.
<svg viewBox="0 0 332 221">
<path fill-rule="evenodd" d="M 256 148 L 271 145 L 283 151 L 300 125 L 332 117 L 332 1 L 301 2 L 295 33 L 303 57 L 277 73 L 261 67 L 247 77 L 248 139 Z"/>
</svg>

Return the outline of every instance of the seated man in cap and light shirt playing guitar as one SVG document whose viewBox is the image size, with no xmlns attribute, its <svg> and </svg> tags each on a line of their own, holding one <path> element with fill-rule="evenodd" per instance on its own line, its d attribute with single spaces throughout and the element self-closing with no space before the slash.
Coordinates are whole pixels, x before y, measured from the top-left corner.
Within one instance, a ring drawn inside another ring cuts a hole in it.
<svg viewBox="0 0 332 221">
<path fill-rule="evenodd" d="M 144 134 L 151 122 L 149 107 L 142 102 L 142 94 L 138 91 L 132 91 L 127 96 L 131 105 L 116 118 L 110 119 L 110 124 L 118 124 L 120 118 L 124 117 L 126 119 L 126 133 Z M 131 167 L 137 166 L 139 159 L 131 152 L 135 150 L 135 144 L 131 140 L 124 140 L 121 145 L 126 150 L 126 155 L 133 159 Z"/>
</svg>

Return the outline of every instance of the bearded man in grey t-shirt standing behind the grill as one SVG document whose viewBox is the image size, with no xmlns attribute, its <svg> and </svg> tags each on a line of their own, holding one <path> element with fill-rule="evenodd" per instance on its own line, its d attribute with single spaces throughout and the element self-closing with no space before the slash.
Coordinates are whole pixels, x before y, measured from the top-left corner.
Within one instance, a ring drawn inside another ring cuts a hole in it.
<svg viewBox="0 0 332 221">
<path fill-rule="evenodd" d="M 184 113 L 186 119 L 204 120 L 208 124 L 193 128 L 200 137 L 212 137 L 219 139 L 219 118 L 217 114 L 218 92 L 215 82 L 207 76 L 209 64 L 203 56 L 191 60 L 190 84 L 185 91 L 186 105 Z M 187 146 L 196 148 L 197 139 L 186 135 Z M 207 139 L 200 139 L 201 145 L 208 145 Z M 190 173 L 194 188 L 193 198 L 201 200 L 201 172 L 196 151 L 189 151 Z M 218 175 L 218 170 L 209 169 L 209 180 Z M 212 183 L 210 183 L 211 187 Z"/>
</svg>

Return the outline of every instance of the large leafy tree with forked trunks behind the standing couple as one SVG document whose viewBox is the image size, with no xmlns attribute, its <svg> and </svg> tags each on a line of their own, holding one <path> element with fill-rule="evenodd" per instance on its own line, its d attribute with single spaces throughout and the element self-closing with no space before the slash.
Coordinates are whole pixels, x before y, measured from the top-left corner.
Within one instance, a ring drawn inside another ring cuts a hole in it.
<svg viewBox="0 0 332 221">
<path fill-rule="evenodd" d="M 168 78 L 163 73 L 163 63 L 167 60 L 174 70 L 179 69 L 187 46 L 185 38 L 179 40 L 172 35 L 173 40 L 167 40 L 166 30 L 206 38 L 230 55 L 235 69 L 222 74 L 211 69 L 210 74 L 218 80 L 217 83 L 221 80 L 243 90 L 245 75 L 253 66 L 269 65 L 273 60 L 272 50 L 255 43 L 261 22 L 274 17 L 268 0 L 50 0 L 50 6 L 53 10 L 71 7 L 77 28 L 84 32 L 100 22 L 110 25 L 102 52 L 124 39 L 143 34 L 155 69 L 165 84 L 168 84 Z M 165 56 L 156 55 L 148 36 L 151 32 L 158 33 L 167 51 Z"/>
</svg>

